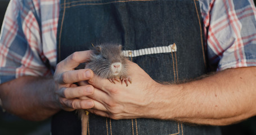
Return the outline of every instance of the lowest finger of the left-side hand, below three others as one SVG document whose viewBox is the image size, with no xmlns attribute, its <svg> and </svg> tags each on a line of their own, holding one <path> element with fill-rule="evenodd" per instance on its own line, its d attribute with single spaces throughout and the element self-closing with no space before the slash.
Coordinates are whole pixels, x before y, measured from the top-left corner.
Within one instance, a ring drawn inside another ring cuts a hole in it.
<svg viewBox="0 0 256 135">
<path fill-rule="evenodd" d="M 63 103 L 68 109 L 90 109 L 95 105 L 92 100 L 79 100 L 77 98 L 64 98 Z"/>
</svg>

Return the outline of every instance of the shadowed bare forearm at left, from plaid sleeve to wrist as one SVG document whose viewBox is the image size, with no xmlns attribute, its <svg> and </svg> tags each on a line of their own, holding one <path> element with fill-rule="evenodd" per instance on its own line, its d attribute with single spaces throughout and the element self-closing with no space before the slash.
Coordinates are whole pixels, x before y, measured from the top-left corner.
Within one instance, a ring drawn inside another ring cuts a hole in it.
<svg viewBox="0 0 256 135">
<path fill-rule="evenodd" d="M 2 107 L 23 119 L 43 120 L 57 113 L 52 78 L 20 77 L 0 85 Z"/>
</svg>

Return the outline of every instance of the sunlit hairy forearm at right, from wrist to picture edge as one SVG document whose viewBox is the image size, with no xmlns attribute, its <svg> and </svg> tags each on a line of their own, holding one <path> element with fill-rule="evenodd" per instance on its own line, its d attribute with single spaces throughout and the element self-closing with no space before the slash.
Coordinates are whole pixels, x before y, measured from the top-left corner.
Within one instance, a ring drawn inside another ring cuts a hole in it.
<svg viewBox="0 0 256 135">
<path fill-rule="evenodd" d="M 226 125 L 256 114 L 256 68 L 229 69 L 194 82 L 163 86 L 161 119 Z"/>
</svg>

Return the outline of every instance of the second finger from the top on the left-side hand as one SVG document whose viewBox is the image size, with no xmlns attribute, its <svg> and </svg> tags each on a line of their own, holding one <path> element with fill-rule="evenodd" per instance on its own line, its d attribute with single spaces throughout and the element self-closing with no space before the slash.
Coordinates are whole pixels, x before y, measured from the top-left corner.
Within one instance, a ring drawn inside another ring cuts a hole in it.
<svg viewBox="0 0 256 135">
<path fill-rule="evenodd" d="M 79 69 L 79 70 L 71 70 L 62 73 L 58 82 L 60 84 L 70 84 L 77 83 L 83 80 L 88 80 L 93 77 L 93 71 L 91 69 Z"/>
</svg>

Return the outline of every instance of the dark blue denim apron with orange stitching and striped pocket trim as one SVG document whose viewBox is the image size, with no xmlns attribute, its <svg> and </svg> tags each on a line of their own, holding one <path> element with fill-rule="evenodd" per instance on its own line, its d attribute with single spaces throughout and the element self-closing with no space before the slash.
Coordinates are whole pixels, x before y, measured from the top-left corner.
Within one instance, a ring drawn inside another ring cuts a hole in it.
<svg viewBox="0 0 256 135">
<path fill-rule="evenodd" d="M 124 55 L 159 83 L 206 73 L 199 2 L 196 0 L 61 0 L 58 61 L 93 44 L 118 43 Z M 159 112 L 160 113 L 160 112 Z M 80 120 L 60 111 L 52 134 L 80 134 Z M 88 134 L 221 134 L 218 127 L 158 119 L 113 120 L 89 114 Z"/>
</svg>

